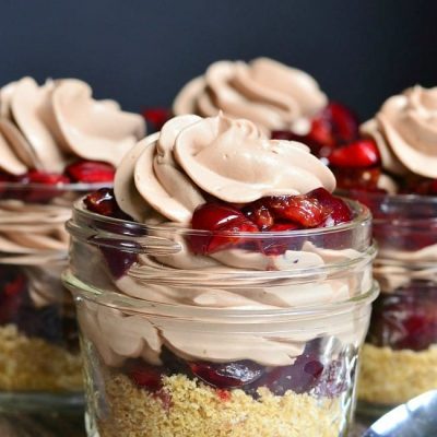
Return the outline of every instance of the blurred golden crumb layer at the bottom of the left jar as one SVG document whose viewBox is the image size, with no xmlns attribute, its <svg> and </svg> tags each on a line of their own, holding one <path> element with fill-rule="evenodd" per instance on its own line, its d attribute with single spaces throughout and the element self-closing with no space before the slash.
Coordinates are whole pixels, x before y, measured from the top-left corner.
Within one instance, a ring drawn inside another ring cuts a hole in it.
<svg viewBox="0 0 437 437">
<path fill-rule="evenodd" d="M 0 390 L 82 390 L 82 359 L 42 339 L 31 339 L 16 326 L 0 327 Z"/>
</svg>

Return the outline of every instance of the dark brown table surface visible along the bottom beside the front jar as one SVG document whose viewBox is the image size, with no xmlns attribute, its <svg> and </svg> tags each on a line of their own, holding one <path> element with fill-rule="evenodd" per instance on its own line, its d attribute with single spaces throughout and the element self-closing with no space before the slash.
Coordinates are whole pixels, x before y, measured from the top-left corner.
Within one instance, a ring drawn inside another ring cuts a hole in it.
<svg viewBox="0 0 437 437">
<path fill-rule="evenodd" d="M 363 422 L 363 421 L 362 421 Z M 350 437 L 362 435 L 365 426 L 357 424 Z M 1 437 L 85 437 L 80 413 L 25 414 L 0 413 Z"/>
</svg>

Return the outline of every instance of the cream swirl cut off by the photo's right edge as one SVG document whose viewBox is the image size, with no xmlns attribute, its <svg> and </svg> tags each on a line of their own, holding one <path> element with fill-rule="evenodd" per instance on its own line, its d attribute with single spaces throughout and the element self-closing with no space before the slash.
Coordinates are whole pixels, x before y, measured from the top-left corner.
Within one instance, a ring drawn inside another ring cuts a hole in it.
<svg viewBox="0 0 437 437">
<path fill-rule="evenodd" d="M 437 178 L 437 87 L 388 98 L 361 130 L 377 142 L 386 170 Z"/>
</svg>

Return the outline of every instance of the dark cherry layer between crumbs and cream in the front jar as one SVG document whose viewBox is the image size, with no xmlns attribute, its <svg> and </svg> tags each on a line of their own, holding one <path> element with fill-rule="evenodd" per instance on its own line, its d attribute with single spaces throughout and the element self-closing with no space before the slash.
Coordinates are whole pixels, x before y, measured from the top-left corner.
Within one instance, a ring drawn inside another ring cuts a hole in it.
<svg viewBox="0 0 437 437">
<path fill-rule="evenodd" d="M 261 387 L 276 395 L 292 390 L 332 398 L 347 389 L 353 365 L 347 365 L 344 354 L 332 361 L 324 358 L 319 346 L 317 339 L 307 343 L 294 364 L 279 367 L 261 366 L 249 359 L 228 363 L 184 361 L 164 349 L 162 366 L 133 359 L 125 365 L 123 371 L 138 387 L 152 393 L 162 389 L 164 376 L 182 374 L 217 389 L 217 397 L 224 401 L 228 400 L 225 393 L 232 389 L 244 390 L 257 399 L 257 390 Z"/>
</svg>

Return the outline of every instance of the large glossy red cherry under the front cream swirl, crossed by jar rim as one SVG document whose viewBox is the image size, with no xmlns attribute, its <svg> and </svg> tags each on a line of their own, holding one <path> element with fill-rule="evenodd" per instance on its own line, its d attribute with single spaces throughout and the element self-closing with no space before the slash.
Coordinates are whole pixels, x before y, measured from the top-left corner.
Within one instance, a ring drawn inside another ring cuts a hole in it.
<svg viewBox="0 0 437 437">
<path fill-rule="evenodd" d="M 198 206 L 191 220 L 193 229 L 229 233 L 252 233 L 258 227 L 236 208 L 222 203 L 204 203 Z M 243 243 L 238 235 L 191 235 L 190 246 L 194 253 L 214 253 Z"/>
</svg>

